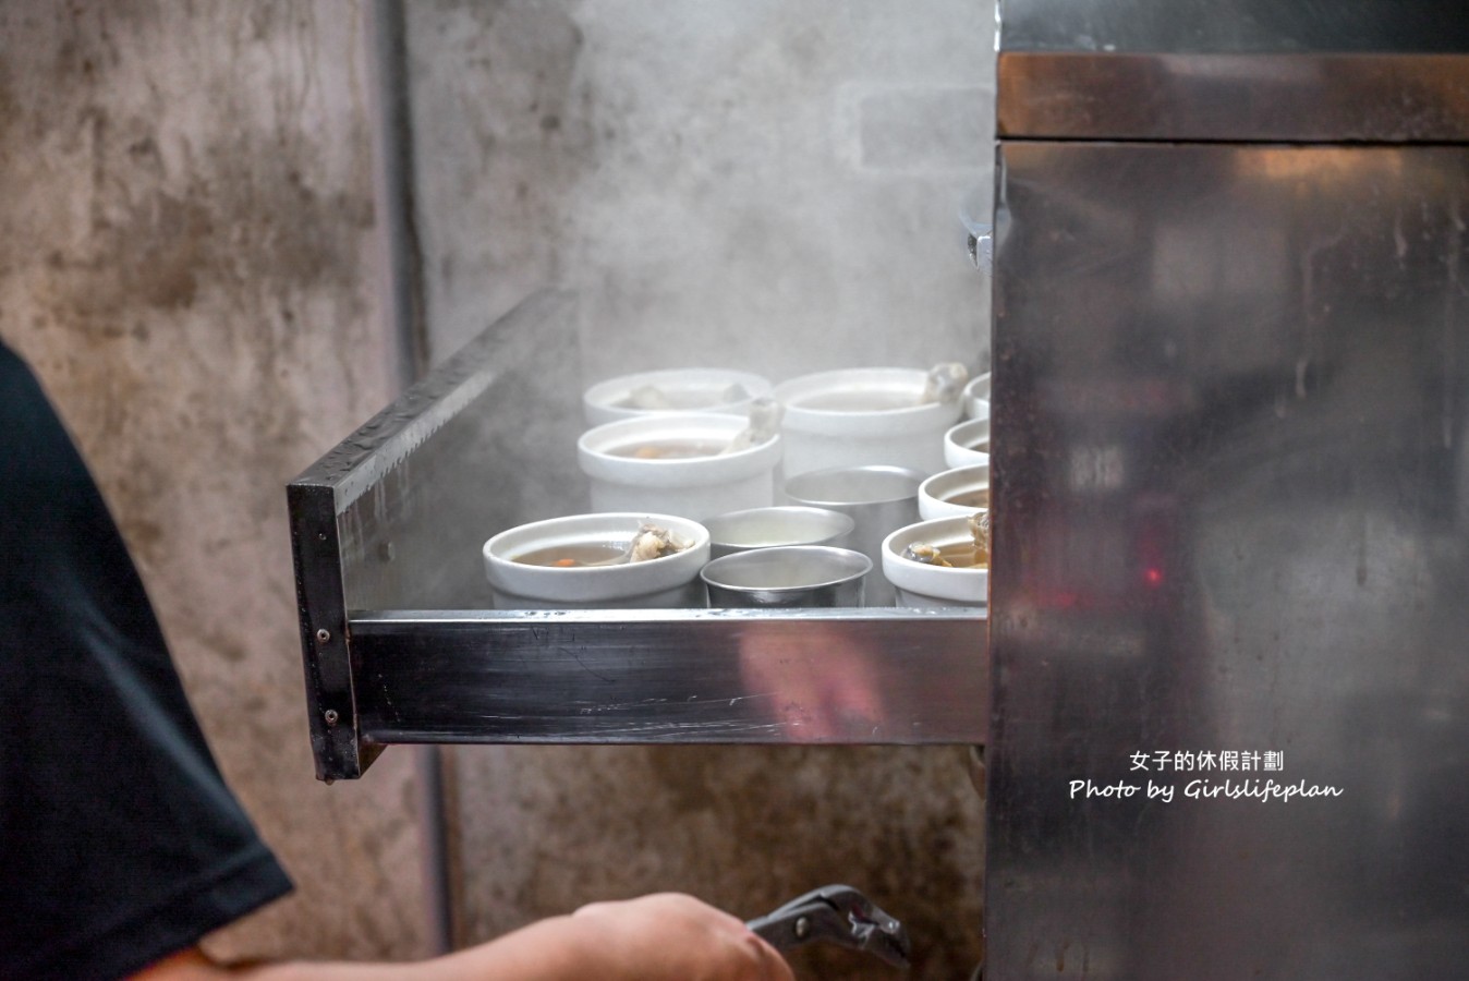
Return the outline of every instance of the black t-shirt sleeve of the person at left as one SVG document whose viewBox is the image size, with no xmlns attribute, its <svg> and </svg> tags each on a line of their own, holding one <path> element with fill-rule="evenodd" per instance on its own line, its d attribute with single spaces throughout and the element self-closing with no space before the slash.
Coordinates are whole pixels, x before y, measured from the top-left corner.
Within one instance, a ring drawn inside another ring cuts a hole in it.
<svg viewBox="0 0 1469 981">
<path fill-rule="evenodd" d="M 289 888 L 85 464 L 0 345 L 0 977 L 125 977 Z"/>
</svg>

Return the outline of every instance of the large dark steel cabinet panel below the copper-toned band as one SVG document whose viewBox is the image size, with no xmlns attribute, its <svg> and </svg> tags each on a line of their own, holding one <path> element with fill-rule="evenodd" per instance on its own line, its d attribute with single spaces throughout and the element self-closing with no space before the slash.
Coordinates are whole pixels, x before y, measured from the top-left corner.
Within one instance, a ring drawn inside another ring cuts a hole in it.
<svg viewBox="0 0 1469 981">
<path fill-rule="evenodd" d="M 1460 977 L 1469 148 L 1000 166 L 984 977 Z"/>
</svg>

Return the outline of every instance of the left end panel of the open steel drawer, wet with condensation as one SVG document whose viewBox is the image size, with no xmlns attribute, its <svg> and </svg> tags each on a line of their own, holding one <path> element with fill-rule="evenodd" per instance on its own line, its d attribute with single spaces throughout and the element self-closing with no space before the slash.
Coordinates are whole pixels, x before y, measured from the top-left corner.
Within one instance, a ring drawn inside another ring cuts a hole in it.
<svg viewBox="0 0 1469 981">
<path fill-rule="evenodd" d="M 474 535 L 517 513 L 517 495 L 494 492 L 495 474 L 536 451 L 494 430 L 495 407 L 554 398 L 564 376 L 545 350 L 574 329 L 574 311 L 555 292 L 521 304 L 286 488 L 319 778 L 357 777 L 380 752 L 358 727 L 347 611 L 489 605 Z M 541 457 L 545 480 L 566 474 Z"/>
</svg>

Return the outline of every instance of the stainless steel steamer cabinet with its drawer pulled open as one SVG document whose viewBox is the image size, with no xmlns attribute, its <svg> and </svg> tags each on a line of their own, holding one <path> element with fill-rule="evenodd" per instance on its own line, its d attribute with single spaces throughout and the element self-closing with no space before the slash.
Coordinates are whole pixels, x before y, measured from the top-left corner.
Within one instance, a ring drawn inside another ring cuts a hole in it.
<svg viewBox="0 0 1469 981">
<path fill-rule="evenodd" d="M 463 489 L 557 479 L 495 426 L 582 386 L 552 291 L 289 486 L 317 772 L 987 743 L 989 978 L 1460 977 L 1469 18 L 1011 0 L 999 37 L 989 624 L 491 611 L 466 537 L 520 502 Z M 852 673 L 876 714 L 779 705 Z"/>
</svg>

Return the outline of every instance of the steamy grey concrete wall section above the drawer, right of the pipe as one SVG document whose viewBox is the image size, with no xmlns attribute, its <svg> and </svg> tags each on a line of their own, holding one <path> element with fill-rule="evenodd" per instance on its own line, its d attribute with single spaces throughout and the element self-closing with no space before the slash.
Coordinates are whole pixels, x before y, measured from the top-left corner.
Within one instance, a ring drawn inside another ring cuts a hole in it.
<svg viewBox="0 0 1469 981">
<path fill-rule="evenodd" d="M 987 358 L 986 0 L 408 6 L 432 351 L 582 292 L 588 380 Z M 569 401 L 574 401 L 569 399 Z"/>
</svg>

